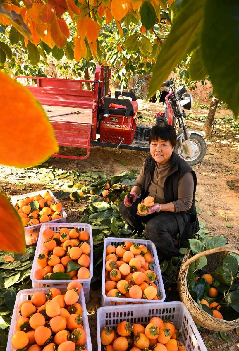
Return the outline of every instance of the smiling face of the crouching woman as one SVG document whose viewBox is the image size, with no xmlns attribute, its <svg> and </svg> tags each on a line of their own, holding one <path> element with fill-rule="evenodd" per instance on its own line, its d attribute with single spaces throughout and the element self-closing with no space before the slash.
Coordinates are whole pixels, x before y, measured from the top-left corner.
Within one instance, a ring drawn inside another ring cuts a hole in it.
<svg viewBox="0 0 239 351">
<path fill-rule="evenodd" d="M 174 147 L 171 145 L 170 141 L 165 141 L 159 139 L 158 141 L 151 141 L 150 144 L 150 153 L 151 156 L 155 159 L 158 163 L 165 163 L 167 162 L 172 153 Z"/>
</svg>

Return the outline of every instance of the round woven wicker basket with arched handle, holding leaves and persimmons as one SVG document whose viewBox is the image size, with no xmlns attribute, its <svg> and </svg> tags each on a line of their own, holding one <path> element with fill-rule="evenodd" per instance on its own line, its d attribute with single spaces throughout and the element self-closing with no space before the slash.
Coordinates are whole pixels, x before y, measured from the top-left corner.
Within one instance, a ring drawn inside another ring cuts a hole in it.
<svg viewBox="0 0 239 351">
<path fill-rule="evenodd" d="M 217 249 L 211 249 L 203 252 L 199 252 L 195 256 L 188 259 L 191 249 L 189 249 L 184 258 L 182 259 L 182 265 L 178 276 L 178 290 L 180 300 L 185 303 L 188 311 L 190 312 L 195 323 L 210 330 L 231 330 L 239 327 L 239 318 L 236 320 L 224 320 L 219 318 L 214 318 L 210 314 L 203 311 L 198 304 L 193 300 L 187 288 L 187 272 L 188 266 L 202 256 L 207 257 L 207 265 L 203 268 L 204 271 L 208 273 L 214 272 L 217 267 L 223 264 L 224 258 L 229 254 L 229 252 L 235 253 L 239 256 L 239 251 L 228 249 L 225 247 L 218 247 Z M 208 267 L 210 266 L 210 269 Z M 213 274 L 212 274 L 213 276 Z M 214 277 L 213 277 L 214 278 Z"/>
</svg>

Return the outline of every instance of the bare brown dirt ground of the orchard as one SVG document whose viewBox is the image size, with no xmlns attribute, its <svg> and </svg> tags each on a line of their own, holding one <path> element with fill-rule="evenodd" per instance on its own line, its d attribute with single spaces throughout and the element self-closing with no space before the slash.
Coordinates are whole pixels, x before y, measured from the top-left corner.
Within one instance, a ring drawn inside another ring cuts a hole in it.
<svg viewBox="0 0 239 351">
<path fill-rule="evenodd" d="M 155 112 L 164 111 L 164 106 L 153 103 L 148 103 L 142 100 L 139 101 L 138 115 L 144 117 L 143 123 L 153 124 Z M 199 118 L 206 115 L 208 109 L 193 108 L 190 117 Z M 232 111 L 226 109 L 218 109 L 215 117 L 233 116 Z M 199 118 L 200 119 L 200 118 Z M 186 121 L 188 127 L 201 131 L 203 122 L 197 119 L 188 119 Z M 224 236 L 227 238 L 227 246 L 239 250 L 239 131 L 230 130 L 230 126 L 225 122 L 217 125 L 216 134 L 212 134 L 210 140 L 206 140 L 207 154 L 205 158 L 194 166 L 197 175 L 197 197 L 200 202 L 197 204 L 201 208 L 199 220 L 206 222 L 206 228 L 214 232 L 215 236 Z M 61 151 L 77 155 L 84 154 L 82 149 L 61 147 Z M 208 155 L 210 153 L 210 155 Z M 138 152 L 130 150 L 121 150 L 120 154 L 115 153 L 115 149 L 92 147 L 91 153 L 87 159 L 71 160 L 64 158 L 51 158 L 49 166 L 60 168 L 62 170 L 76 171 L 105 171 L 110 174 L 119 174 L 123 171 L 132 169 L 140 170 L 147 152 Z M 116 159 L 121 159 L 130 164 L 122 166 Z M 0 166 L 0 190 L 11 198 L 12 196 L 25 194 L 37 190 L 44 189 L 49 181 L 45 179 L 44 174 L 38 174 L 36 177 L 21 178 L 16 174 L 18 168 Z M 231 172 L 226 174 L 225 172 Z M 230 188 L 228 184 L 235 184 Z M 17 185 L 24 184 L 24 190 L 18 190 Z M 65 188 L 63 188 L 65 190 Z M 67 189 L 67 191 L 73 191 Z M 61 200 L 62 207 L 67 213 L 67 222 L 76 223 L 82 216 L 78 212 L 79 207 L 84 207 L 85 203 L 73 203 L 71 200 Z M 211 212 L 207 214 L 207 211 Z M 232 225 L 232 228 L 227 227 Z M 91 299 L 87 304 L 89 325 L 91 329 L 92 347 L 97 349 L 97 325 L 96 311 L 100 307 L 100 287 L 92 284 Z M 207 346 L 208 350 L 215 348 L 220 350 L 238 350 L 239 339 L 235 330 L 226 332 L 226 335 L 231 338 L 231 343 L 225 343 L 221 337 L 218 339 L 212 337 L 212 331 L 204 329 L 201 336 L 205 344 L 211 341 Z M 238 346 L 237 346 L 238 345 Z"/>
</svg>

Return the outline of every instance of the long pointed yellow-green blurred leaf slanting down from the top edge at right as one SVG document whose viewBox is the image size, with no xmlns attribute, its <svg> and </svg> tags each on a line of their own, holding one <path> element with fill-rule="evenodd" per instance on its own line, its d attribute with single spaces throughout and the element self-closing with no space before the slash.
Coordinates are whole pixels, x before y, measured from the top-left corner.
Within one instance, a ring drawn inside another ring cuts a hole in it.
<svg viewBox="0 0 239 351">
<path fill-rule="evenodd" d="M 197 47 L 195 37 L 201 28 L 203 3 L 203 1 L 182 0 L 178 17 L 155 62 L 147 98 L 161 88 L 162 83 L 169 77 L 178 62 Z M 194 42 L 195 45 L 193 45 Z"/>
</svg>

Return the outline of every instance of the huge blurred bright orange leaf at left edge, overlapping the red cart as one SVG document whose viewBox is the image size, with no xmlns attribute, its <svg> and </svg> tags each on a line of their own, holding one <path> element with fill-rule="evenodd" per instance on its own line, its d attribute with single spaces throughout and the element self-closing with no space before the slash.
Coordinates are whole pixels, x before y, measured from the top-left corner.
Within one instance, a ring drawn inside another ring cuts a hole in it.
<svg viewBox="0 0 239 351">
<path fill-rule="evenodd" d="M 0 71 L 0 91 L 0 164 L 30 167 L 57 152 L 52 125 L 29 90 Z M 32 145 L 27 143 L 26 135 L 32 140 Z M 10 223 L 14 228 L 12 221 Z"/>
</svg>

